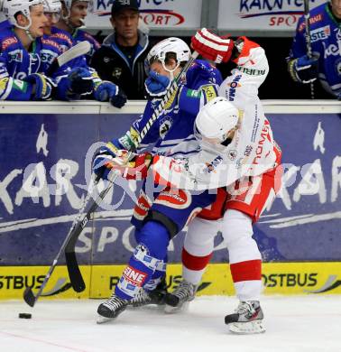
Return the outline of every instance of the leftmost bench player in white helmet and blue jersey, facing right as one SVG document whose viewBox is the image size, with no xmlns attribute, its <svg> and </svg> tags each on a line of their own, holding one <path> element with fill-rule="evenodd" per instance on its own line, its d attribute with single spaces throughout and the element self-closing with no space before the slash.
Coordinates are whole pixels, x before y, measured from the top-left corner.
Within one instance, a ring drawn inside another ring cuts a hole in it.
<svg viewBox="0 0 341 352">
<path fill-rule="evenodd" d="M 5 0 L 4 13 L 11 25 L 0 32 L 0 99 L 46 100 L 52 93 L 68 99 L 83 92 L 71 91 L 69 65 L 51 71 L 61 54 L 58 43 L 42 38 L 47 21 L 41 0 Z"/>
</svg>

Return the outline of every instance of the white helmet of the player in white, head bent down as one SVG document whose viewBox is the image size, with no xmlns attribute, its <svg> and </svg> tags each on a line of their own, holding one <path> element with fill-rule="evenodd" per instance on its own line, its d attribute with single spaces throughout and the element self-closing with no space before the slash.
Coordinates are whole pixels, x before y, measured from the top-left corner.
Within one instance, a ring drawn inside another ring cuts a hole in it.
<svg viewBox="0 0 341 352">
<path fill-rule="evenodd" d="M 239 121 L 239 110 L 226 97 L 214 97 L 198 112 L 195 121 L 196 135 L 217 139 L 219 143 L 226 140 L 231 130 Z"/>
</svg>

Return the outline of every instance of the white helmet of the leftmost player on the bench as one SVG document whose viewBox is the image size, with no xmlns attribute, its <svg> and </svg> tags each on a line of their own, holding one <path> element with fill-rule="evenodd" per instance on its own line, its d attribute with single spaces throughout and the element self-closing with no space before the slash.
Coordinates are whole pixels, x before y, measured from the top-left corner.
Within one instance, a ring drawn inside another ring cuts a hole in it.
<svg viewBox="0 0 341 352">
<path fill-rule="evenodd" d="M 34 5 L 43 5 L 44 0 L 4 0 L 3 11 L 8 21 L 14 24 L 15 27 L 28 30 L 32 25 L 32 19 L 30 15 L 30 8 Z M 15 14 L 22 13 L 28 20 L 29 23 L 23 27 L 16 22 Z"/>
</svg>

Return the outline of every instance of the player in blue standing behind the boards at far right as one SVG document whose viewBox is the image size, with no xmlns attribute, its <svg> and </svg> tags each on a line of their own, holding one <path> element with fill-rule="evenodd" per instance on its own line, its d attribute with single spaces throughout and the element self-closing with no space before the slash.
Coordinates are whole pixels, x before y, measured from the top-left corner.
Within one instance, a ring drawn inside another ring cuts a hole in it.
<svg viewBox="0 0 341 352">
<path fill-rule="evenodd" d="M 318 79 L 316 97 L 341 99 L 341 0 L 331 0 L 309 12 L 312 57 L 307 55 L 306 26 L 300 17 L 288 58 L 290 77 L 300 83 Z"/>
</svg>

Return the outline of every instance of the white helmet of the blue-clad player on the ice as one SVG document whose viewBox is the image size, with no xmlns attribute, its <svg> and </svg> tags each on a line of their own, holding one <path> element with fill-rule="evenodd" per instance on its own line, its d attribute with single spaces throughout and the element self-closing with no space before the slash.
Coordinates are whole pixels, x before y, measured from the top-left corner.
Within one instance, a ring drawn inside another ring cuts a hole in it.
<svg viewBox="0 0 341 352">
<path fill-rule="evenodd" d="M 178 69 L 181 62 L 188 61 L 190 57 L 189 45 L 187 45 L 186 42 L 176 37 L 167 38 L 158 42 L 152 47 L 151 51 L 148 52 L 147 58 L 144 61 L 144 69 L 146 73 L 149 74 L 152 62 L 154 60 L 159 60 L 163 69 L 171 72 L 172 76 L 172 72 L 174 72 L 175 69 L 168 69 L 166 67 L 167 54 L 169 52 L 176 54 L 177 65 L 175 69 Z"/>
</svg>

